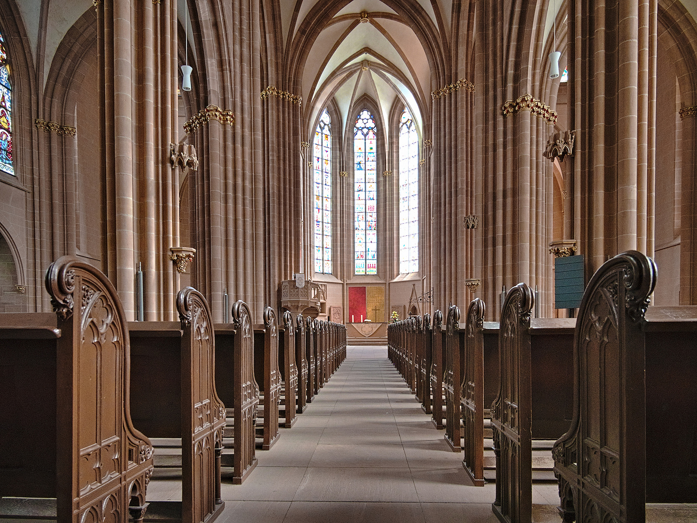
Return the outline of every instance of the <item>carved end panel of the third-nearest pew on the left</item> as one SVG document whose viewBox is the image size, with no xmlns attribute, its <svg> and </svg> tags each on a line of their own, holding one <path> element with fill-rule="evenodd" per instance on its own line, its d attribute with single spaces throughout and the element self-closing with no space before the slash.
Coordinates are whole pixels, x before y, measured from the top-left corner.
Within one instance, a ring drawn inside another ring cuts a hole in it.
<svg viewBox="0 0 697 523">
<path fill-rule="evenodd" d="M 241 299 L 232 306 L 232 321 L 236 328 L 233 366 L 233 409 L 235 416 L 233 483 L 242 483 L 256 466 L 255 429 L 259 408 L 259 385 L 254 379 L 254 332 L 252 314 Z"/>
</svg>

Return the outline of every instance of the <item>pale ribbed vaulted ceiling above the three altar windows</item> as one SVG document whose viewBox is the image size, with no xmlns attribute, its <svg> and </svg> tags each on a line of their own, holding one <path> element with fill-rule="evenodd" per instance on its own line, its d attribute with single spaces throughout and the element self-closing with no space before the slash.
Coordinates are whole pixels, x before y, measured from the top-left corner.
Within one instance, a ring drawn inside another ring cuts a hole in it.
<svg viewBox="0 0 697 523">
<path fill-rule="evenodd" d="M 307 20 L 314 20 L 324 0 L 279 0 L 283 42 L 293 49 L 302 38 Z M 355 101 L 370 97 L 387 120 L 397 100 L 411 110 L 418 127 L 431 103 L 431 66 L 413 26 L 380 0 L 353 0 L 320 24 L 309 42 L 300 72 L 305 123 L 312 126 L 332 98 L 346 128 Z M 415 2 L 416 4 L 416 2 Z M 415 6 L 414 6 L 415 7 Z M 416 16 L 447 38 L 452 0 L 420 0 Z M 304 25 L 305 24 L 305 25 Z M 445 33 L 445 34 L 443 34 Z M 298 36 L 300 35 L 300 37 Z M 288 54 L 286 53 L 286 56 Z"/>
</svg>

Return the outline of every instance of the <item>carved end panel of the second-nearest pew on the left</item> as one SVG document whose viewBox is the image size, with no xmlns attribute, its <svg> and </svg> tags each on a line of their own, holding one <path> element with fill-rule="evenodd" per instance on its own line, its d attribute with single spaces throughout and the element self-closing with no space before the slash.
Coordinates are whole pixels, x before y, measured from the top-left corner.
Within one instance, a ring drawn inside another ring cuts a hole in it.
<svg viewBox="0 0 697 523">
<path fill-rule="evenodd" d="M 215 391 L 215 336 L 208 302 L 192 287 L 176 301 L 181 338 L 182 521 L 204 522 L 220 500 L 225 407 Z"/>
</svg>

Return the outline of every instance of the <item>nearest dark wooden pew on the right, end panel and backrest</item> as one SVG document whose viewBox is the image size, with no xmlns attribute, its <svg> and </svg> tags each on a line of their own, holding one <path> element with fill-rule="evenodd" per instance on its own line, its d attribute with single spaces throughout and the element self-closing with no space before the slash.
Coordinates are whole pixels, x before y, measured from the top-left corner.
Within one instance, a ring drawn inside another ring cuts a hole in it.
<svg viewBox="0 0 697 523">
<path fill-rule="evenodd" d="M 697 501 L 697 314 L 648 307 L 656 276 L 650 258 L 627 251 L 583 294 L 574 419 L 553 448 L 565 522 L 644 521 L 647 501 Z"/>
</svg>

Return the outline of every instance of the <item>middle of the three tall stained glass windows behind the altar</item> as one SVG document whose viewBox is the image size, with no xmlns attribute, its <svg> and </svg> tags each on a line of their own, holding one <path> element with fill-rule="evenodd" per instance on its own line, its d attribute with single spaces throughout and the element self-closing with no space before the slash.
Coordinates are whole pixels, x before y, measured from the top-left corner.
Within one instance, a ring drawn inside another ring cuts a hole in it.
<svg viewBox="0 0 697 523">
<path fill-rule="evenodd" d="M 355 274 L 378 274 L 377 145 L 375 118 L 363 109 L 353 127 Z"/>
</svg>

